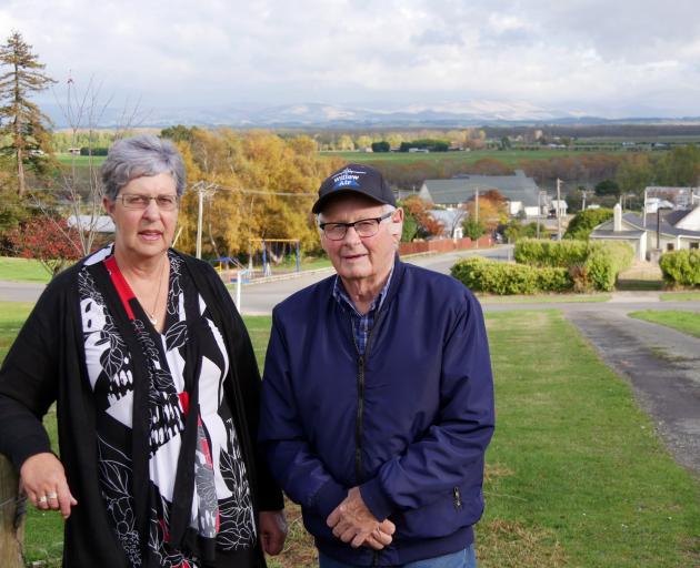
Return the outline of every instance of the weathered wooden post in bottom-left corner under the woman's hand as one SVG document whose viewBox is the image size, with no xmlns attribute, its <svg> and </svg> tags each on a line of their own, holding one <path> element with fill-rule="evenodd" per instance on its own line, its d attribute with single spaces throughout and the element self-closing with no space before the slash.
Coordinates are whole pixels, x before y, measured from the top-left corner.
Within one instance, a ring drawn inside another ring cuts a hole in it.
<svg viewBox="0 0 700 568">
<path fill-rule="evenodd" d="M 24 513 L 21 511 L 18 516 L 18 487 L 19 480 L 14 467 L 0 454 L 0 566 L 2 568 L 24 567 L 22 559 Z"/>
</svg>

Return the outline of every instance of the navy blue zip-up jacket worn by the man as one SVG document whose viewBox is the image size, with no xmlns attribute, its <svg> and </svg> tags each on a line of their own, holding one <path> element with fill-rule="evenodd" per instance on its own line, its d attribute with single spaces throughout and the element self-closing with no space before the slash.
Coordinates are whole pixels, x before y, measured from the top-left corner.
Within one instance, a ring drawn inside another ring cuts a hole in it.
<svg viewBox="0 0 700 568">
<path fill-rule="evenodd" d="M 277 480 L 328 556 L 401 565 L 473 541 L 493 379 L 483 315 L 462 284 L 396 261 L 364 356 L 333 278 L 279 304 L 262 383 L 260 440 Z M 353 549 L 326 525 L 348 489 L 393 541 Z"/>
</svg>

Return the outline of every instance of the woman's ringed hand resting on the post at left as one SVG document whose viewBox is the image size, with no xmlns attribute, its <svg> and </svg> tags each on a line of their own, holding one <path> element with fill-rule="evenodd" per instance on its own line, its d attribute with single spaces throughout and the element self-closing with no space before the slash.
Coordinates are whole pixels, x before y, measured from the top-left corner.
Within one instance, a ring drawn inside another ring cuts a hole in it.
<svg viewBox="0 0 700 568">
<path fill-rule="evenodd" d="M 60 510 L 64 519 L 70 517 L 70 508 L 78 505 L 68 487 L 63 464 L 48 452 L 24 460 L 20 468 L 20 491 L 39 510 Z"/>
</svg>

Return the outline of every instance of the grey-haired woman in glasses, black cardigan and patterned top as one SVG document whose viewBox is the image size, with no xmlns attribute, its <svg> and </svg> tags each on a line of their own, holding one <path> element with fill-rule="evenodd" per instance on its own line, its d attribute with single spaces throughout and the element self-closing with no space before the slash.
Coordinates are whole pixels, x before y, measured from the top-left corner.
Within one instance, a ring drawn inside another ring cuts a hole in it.
<svg viewBox="0 0 700 568">
<path fill-rule="evenodd" d="M 260 377 L 223 284 L 170 248 L 184 169 L 154 136 L 102 166 L 114 243 L 58 275 L 0 371 L 0 452 L 66 523 L 70 567 L 252 567 L 284 540 Z M 41 418 L 57 400 L 61 460 Z"/>
</svg>

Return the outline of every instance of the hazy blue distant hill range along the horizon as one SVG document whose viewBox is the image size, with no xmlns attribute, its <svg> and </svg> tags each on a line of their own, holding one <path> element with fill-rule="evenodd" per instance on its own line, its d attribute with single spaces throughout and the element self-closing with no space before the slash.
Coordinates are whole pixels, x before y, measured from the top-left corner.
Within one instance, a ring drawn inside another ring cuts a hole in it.
<svg viewBox="0 0 700 568">
<path fill-rule="evenodd" d="M 42 110 L 57 128 L 68 126 L 56 105 Z M 139 109 L 138 126 L 163 128 L 174 124 L 277 129 L 361 128 L 466 128 L 594 124 L 698 124 L 700 116 L 604 119 L 573 112 L 539 109 L 528 104 L 473 101 L 469 104 L 410 105 L 393 109 L 353 108 L 337 104 L 302 103 L 277 106 L 231 105 Z M 121 109 L 106 109 L 99 128 L 123 125 Z"/>
</svg>

